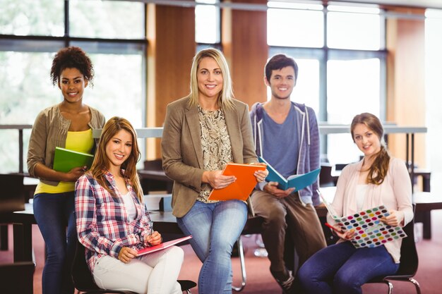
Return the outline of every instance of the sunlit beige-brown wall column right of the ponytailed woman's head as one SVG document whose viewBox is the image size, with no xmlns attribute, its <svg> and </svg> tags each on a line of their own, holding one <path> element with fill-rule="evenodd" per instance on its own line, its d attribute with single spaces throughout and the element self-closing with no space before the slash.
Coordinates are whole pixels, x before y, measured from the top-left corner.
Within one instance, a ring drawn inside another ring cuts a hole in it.
<svg viewBox="0 0 442 294">
<path fill-rule="evenodd" d="M 390 8 L 390 11 L 424 14 L 423 9 Z M 401 126 L 425 125 L 424 20 L 387 20 L 387 120 Z M 414 160 L 425 167 L 424 134 L 414 136 Z M 406 136 L 390 135 L 390 151 L 406 158 Z M 409 156 L 410 158 L 410 156 Z"/>
</svg>

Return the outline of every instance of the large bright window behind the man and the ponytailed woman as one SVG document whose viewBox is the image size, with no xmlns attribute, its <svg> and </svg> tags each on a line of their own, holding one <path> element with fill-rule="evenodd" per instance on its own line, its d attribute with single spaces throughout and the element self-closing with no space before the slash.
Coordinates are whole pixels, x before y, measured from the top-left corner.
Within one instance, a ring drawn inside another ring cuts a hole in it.
<svg viewBox="0 0 442 294">
<path fill-rule="evenodd" d="M 312 3 L 268 2 L 269 55 L 285 53 L 299 66 L 292 100 L 311 106 L 320 123 L 349 125 L 362 112 L 383 120 L 386 51 L 382 11 L 374 6 Z M 333 164 L 356 161 L 360 155 L 348 134 L 323 136 L 321 152 Z"/>
</svg>

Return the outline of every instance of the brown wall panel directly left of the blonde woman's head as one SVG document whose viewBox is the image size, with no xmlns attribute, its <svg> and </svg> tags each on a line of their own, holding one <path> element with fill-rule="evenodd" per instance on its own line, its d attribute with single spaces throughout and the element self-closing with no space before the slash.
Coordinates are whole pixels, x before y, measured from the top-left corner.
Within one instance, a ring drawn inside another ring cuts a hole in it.
<svg viewBox="0 0 442 294">
<path fill-rule="evenodd" d="M 167 104 L 189 93 L 189 73 L 196 50 L 194 9 L 149 4 L 147 30 L 146 125 L 160 127 Z M 161 157 L 160 139 L 148 139 L 146 146 L 146 159 Z"/>
</svg>

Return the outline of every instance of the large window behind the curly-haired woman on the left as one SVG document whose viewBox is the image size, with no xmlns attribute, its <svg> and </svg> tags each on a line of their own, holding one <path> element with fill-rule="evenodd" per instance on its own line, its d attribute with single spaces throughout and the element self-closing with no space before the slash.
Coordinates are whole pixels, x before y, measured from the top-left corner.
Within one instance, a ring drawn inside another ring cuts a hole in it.
<svg viewBox="0 0 442 294">
<path fill-rule="evenodd" d="M 0 125 L 32 125 L 38 112 L 61 102 L 61 92 L 49 78 L 52 58 L 62 47 L 78 46 L 88 53 L 95 69 L 94 85 L 85 90 L 85 104 L 99 109 L 106 118 L 123 116 L 136 128 L 145 126 L 145 4 L 95 0 L 1 3 Z M 24 161 L 29 135 L 30 130 L 23 132 Z M 0 130 L 0 140 L 4 154 L 0 172 L 17 172 L 18 131 Z"/>
</svg>

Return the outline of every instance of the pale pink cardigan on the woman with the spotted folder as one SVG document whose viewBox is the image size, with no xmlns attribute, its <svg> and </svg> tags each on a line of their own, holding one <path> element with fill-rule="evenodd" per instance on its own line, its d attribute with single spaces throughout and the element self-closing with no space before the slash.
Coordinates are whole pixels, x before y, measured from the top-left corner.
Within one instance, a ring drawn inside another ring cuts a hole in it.
<svg viewBox="0 0 442 294">
<path fill-rule="evenodd" d="M 336 194 L 333 199 L 333 207 L 338 216 L 347 216 L 357 213 L 356 208 L 356 186 L 359 179 L 359 171 L 362 167 L 362 161 L 345 166 L 339 176 Z M 413 219 L 412 209 L 412 185 L 410 174 L 407 171 L 405 162 L 400 159 L 390 159 L 388 173 L 381 185 L 369 184 L 362 210 L 385 205 L 387 209 L 398 210 L 398 219 L 405 226 Z M 402 215 L 401 215 L 402 214 Z M 327 219 L 334 223 L 330 214 Z M 343 242 L 339 240 L 338 242 Z M 386 249 L 393 257 L 394 261 L 400 261 L 400 245 L 402 239 L 386 243 Z"/>
</svg>

